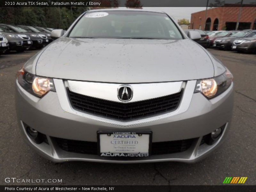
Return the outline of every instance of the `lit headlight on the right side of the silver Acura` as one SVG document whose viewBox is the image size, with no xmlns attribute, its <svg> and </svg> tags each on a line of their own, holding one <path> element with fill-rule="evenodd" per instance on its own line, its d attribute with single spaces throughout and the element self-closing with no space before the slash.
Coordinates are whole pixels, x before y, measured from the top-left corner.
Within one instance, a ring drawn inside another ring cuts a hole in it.
<svg viewBox="0 0 256 192">
<path fill-rule="evenodd" d="M 226 91 L 233 81 L 233 75 L 227 69 L 225 73 L 211 79 L 197 80 L 195 93 L 201 92 L 208 99 Z"/>
</svg>

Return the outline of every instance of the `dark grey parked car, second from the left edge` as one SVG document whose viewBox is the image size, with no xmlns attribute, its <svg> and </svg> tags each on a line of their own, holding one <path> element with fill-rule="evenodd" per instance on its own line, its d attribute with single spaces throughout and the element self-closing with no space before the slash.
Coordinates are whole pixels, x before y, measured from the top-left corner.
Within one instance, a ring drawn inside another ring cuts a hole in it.
<svg viewBox="0 0 256 192">
<path fill-rule="evenodd" d="M 5 31 L 2 26 L 0 26 L 0 32 L 5 36 L 9 44 L 9 50 L 6 50 L 5 52 L 23 52 L 29 49 L 32 45 L 32 41 L 28 35 Z"/>
</svg>

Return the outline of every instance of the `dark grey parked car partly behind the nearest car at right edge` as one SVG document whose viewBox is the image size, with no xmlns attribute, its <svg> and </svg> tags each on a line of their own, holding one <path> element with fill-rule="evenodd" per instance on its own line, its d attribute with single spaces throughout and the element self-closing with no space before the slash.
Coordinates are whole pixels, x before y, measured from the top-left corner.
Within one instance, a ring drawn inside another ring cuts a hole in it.
<svg viewBox="0 0 256 192">
<path fill-rule="evenodd" d="M 224 50 L 231 50 L 233 42 L 241 37 L 251 37 L 254 34 L 252 33 L 252 30 L 250 31 L 239 31 L 238 33 L 235 33 L 234 35 L 228 36 L 228 37 L 220 37 L 215 39 L 213 42 L 213 46 L 219 49 Z M 216 44 L 216 46 L 214 45 Z"/>
</svg>

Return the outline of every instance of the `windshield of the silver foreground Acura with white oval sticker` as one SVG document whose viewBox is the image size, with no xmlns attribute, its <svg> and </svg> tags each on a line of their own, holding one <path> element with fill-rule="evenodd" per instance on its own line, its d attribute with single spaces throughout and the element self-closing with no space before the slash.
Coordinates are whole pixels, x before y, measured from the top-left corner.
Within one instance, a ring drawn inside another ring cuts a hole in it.
<svg viewBox="0 0 256 192">
<path fill-rule="evenodd" d="M 168 15 L 142 11 L 87 12 L 69 37 L 182 39 Z"/>
</svg>

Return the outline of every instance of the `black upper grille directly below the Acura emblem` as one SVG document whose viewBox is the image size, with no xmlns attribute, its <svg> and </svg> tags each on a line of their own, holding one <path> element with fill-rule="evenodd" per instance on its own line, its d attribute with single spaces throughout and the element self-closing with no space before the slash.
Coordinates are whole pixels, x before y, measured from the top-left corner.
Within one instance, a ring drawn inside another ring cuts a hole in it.
<svg viewBox="0 0 256 192">
<path fill-rule="evenodd" d="M 73 108 L 94 114 L 123 121 L 136 118 L 154 116 L 177 109 L 182 91 L 164 97 L 132 103 L 119 103 L 81 95 L 68 90 L 70 103 Z"/>
</svg>

